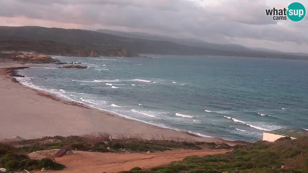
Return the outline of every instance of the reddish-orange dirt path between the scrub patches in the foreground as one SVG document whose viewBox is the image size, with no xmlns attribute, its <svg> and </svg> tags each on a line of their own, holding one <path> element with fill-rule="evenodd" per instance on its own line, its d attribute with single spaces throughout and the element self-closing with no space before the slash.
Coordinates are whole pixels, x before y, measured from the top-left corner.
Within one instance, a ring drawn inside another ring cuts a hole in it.
<svg viewBox="0 0 308 173">
<path fill-rule="evenodd" d="M 150 168 L 165 165 L 175 160 L 182 160 L 187 156 L 204 156 L 222 154 L 229 150 L 172 150 L 156 153 L 98 153 L 76 151 L 77 154 L 64 155 L 56 158 L 67 168 L 62 171 L 48 171 L 54 173 L 103 173 L 128 171 L 133 167 Z M 41 173 L 41 171 L 37 172 Z"/>
</svg>

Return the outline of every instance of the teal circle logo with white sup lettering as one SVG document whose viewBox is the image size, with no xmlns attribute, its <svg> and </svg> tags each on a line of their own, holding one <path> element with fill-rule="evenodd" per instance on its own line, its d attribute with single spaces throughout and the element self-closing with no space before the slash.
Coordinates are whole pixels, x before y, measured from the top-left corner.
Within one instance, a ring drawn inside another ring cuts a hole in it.
<svg viewBox="0 0 308 173">
<path fill-rule="evenodd" d="M 306 15 L 305 7 L 299 2 L 293 2 L 288 6 L 287 16 L 294 22 L 301 21 Z"/>
</svg>

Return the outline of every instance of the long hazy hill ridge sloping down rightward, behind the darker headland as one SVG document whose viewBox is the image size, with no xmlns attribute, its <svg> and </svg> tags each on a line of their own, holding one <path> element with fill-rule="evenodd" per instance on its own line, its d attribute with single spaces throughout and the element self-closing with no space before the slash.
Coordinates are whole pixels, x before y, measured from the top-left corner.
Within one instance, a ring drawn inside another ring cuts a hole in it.
<svg viewBox="0 0 308 173">
<path fill-rule="evenodd" d="M 234 47 L 239 45 L 229 45 L 230 50 L 219 50 L 208 47 L 187 46 L 169 41 L 155 41 L 140 38 L 128 38 L 117 35 L 105 34 L 91 30 L 45 28 L 39 26 L 21 27 L 0 27 L 0 35 L 10 37 L 21 37 L 29 39 L 48 40 L 54 42 L 65 42 L 71 45 L 91 47 L 99 53 L 104 54 L 109 50 L 128 51 L 128 56 L 136 54 L 172 54 L 172 55 L 217 55 L 217 56 L 240 56 L 258 58 L 282 58 L 307 60 L 306 56 L 280 54 L 258 50 L 237 51 Z M 212 44 L 212 43 L 211 43 Z"/>
</svg>

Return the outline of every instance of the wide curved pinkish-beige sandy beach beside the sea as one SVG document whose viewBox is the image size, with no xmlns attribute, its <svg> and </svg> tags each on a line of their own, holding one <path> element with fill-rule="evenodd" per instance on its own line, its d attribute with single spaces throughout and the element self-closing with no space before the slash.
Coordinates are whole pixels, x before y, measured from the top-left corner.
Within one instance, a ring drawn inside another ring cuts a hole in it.
<svg viewBox="0 0 308 173">
<path fill-rule="evenodd" d="M 21 66 L 37 67 L 16 62 L 0 63 L 0 80 L 2 81 L 0 95 L 3 98 L 0 101 L 3 108 L 0 110 L 3 114 L 0 117 L 0 122 L 6 122 L 0 127 L 0 138 L 18 135 L 25 139 L 31 139 L 105 131 L 113 134 L 139 134 L 148 139 L 151 138 L 151 135 L 164 135 L 165 137 L 192 138 L 204 142 L 225 142 L 229 145 L 247 143 L 220 138 L 205 138 L 185 131 L 157 127 L 125 119 L 81 103 L 61 99 L 48 92 L 16 83 L 11 71 L 21 68 Z"/>
</svg>

